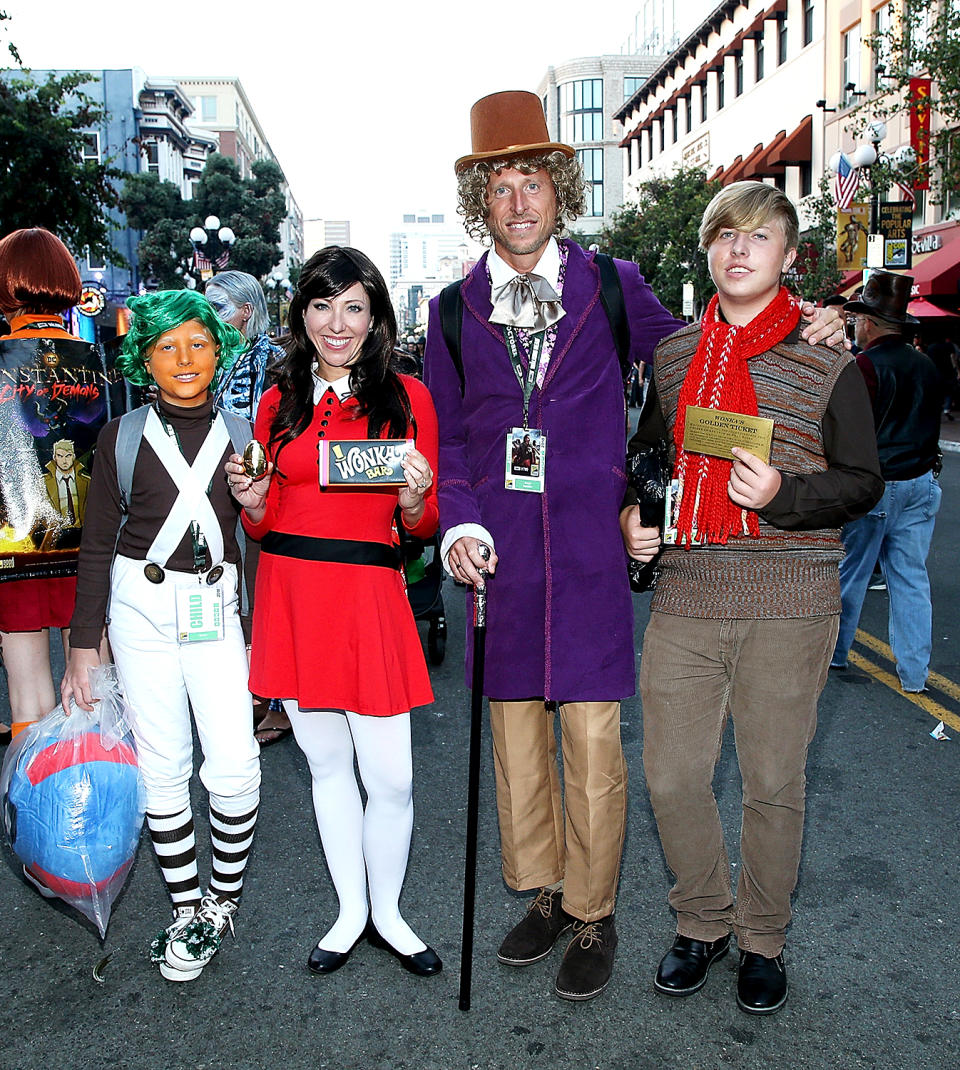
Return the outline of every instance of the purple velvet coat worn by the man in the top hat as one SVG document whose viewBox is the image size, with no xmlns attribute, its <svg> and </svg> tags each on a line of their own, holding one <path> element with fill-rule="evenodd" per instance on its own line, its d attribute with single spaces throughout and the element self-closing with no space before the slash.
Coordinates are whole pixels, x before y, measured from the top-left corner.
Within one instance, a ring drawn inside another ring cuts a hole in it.
<svg viewBox="0 0 960 1070">
<path fill-rule="evenodd" d="M 560 321 L 530 426 L 547 433 L 544 494 L 506 490 L 506 432 L 522 423 L 522 394 L 502 327 L 491 324 L 484 256 L 463 280 L 466 391 L 430 302 L 424 380 L 440 425 L 440 523 L 483 524 L 499 562 L 488 585 L 484 691 L 494 699 L 604 702 L 634 693 L 634 613 L 620 506 L 626 477 L 623 380 L 600 303 L 593 255 L 566 241 Z M 630 355 L 652 361 L 682 326 L 637 265 L 616 261 L 630 324 Z M 467 679 L 472 608 L 468 592 Z"/>
</svg>

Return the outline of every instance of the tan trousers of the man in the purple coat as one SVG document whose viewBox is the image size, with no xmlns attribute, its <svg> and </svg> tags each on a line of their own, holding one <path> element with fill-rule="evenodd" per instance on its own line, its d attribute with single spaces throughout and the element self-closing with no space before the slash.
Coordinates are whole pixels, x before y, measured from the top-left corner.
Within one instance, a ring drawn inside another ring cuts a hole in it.
<svg viewBox="0 0 960 1070">
<path fill-rule="evenodd" d="M 613 913 L 626 829 L 620 703 L 559 709 L 563 794 L 553 712 L 490 700 L 503 878 L 517 891 L 562 880 L 564 910 L 595 921 Z"/>
</svg>

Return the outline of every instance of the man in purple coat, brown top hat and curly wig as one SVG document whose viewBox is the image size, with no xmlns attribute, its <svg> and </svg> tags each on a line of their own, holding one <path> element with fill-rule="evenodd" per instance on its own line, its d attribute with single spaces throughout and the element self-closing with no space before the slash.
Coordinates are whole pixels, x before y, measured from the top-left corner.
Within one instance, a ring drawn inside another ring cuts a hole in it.
<svg viewBox="0 0 960 1070">
<path fill-rule="evenodd" d="M 462 378 L 430 306 L 425 380 L 440 421 L 439 494 L 448 571 L 481 580 L 493 551 L 485 693 L 497 769 L 503 876 L 539 889 L 501 962 L 546 958 L 573 930 L 557 994 L 610 979 L 626 821 L 620 700 L 634 693 L 634 614 L 619 510 L 624 391 L 594 257 L 561 239 L 582 214 L 574 150 L 550 142 L 533 93 L 472 111 L 473 153 L 456 165 L 460 211 L 492 240 L 460 288 Z M 630 360 L 681 324 L 636 264 L 616 261 Z M 538 463 L 512 464 L 530 435 Z M 468 652 L 468 678 L 470 675 Z M 565 798 L 555 760 L 560 710 Z M 565 806 L 564 806 L 565 802 Z M 565 824 L 565 828 L 564 828 Z"/>
</svg>

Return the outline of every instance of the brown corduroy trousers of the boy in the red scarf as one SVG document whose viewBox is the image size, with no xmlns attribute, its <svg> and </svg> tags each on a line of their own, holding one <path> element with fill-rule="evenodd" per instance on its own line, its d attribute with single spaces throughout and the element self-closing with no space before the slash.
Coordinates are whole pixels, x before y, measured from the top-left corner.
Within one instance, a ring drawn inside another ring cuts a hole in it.
<svg viewBox="0 0 960 1070">
<path fill-rule="evenodd" d="M 779 954 L 804 832 L 807 749 L 839 616 L 718 621 L 652 613 L 643 637 L 643 771 L 683 936 Z M 728 715 L 743 779 L 736 905 L 713 792 Z"/>
</svg>

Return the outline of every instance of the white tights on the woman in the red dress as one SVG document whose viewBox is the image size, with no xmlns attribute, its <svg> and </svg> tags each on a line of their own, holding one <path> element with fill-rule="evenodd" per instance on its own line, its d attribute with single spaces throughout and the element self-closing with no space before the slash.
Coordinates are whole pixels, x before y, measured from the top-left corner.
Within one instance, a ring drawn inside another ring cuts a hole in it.
<svg viewBox="0 0 960 1070">
<path fill-rule="evenodd" d="M 400 917 L 400 888 L 413 831 L 413 761 L 410 714 L 362 717 L 338 709 L 302 710 L 284 700 L 293 734 L 310 767 L 314 810 L 331 880 L 340 903 L 333 928 L 320 939 L 326 951 L 347 951 L 370 916 L 401 954 L 426 945 Z M 367 793 L 364 810 L 353 755 Z"/>
</svg>

